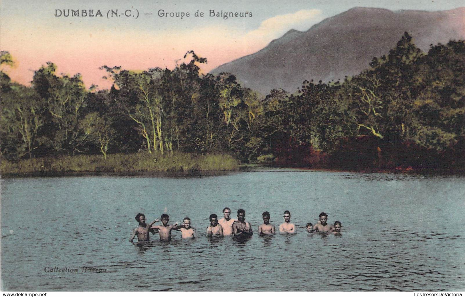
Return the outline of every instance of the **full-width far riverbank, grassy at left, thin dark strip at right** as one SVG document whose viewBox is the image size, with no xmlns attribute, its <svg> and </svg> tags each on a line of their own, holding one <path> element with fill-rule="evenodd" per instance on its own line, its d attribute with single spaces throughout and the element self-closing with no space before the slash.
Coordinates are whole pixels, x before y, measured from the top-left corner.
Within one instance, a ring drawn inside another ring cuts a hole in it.
<svg viewBox="0 0 465 297">
<path fill-rule="evenodd" d="M 87 175 L 190 177 L 221 175 L 231 171 L 329 171 L 356 173 L 402 173 L 425 176 L 465 175 L 459 168 L 344 168 L 340 166 L 302 166 L 270 163 L 240 164 L 228 154 L 190 154 L 174 152 L 161 155 L 147 152 L 113 154 L 106 159 L 101 155 L 62 156 L 58 158 L 33 158 L 10 162 L 1 160 L 2 178 L 63 177 Z"/>
</svg>

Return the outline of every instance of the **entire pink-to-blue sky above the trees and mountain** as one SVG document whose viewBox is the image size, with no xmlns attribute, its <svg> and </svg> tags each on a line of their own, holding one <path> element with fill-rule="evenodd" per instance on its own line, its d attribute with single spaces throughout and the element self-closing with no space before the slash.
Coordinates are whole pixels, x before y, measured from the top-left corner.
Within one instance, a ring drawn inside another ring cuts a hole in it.
<svg viewBox="0 0 465 297">
<path fill-rule="evenodd" d="M 435 11 L 463 6 L 463 0 L 1 0 L 0 49 L 15 61 L 2 71 L 29 85 L 34 71 L 51 61 L 57 73 L 81 73 L 86 86 L 103 89 L 111 86 L 102 79 L 103 65 L 172 69 L 193 50 L 207 58 L 201 67 L 206 73 L 259 51 L 290 29 L 306 31 L 352 7 Z M 65 17 L 68 9 L 79 10 L 80 16 Z M 96 16 L 82 16 L 83 9 Z M 197 11 L 204 15 L 196 16 Z M 225 19 L 221 12 L 238 16 Z"/>
</svg>

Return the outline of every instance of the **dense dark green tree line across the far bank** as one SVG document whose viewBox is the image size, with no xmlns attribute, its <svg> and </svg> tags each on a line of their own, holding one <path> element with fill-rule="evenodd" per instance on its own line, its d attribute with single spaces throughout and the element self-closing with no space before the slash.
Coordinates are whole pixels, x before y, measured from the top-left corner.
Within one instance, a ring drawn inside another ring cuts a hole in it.
<svg viewBox="0 0 465 297">
<path fill-rule="evenodd" d="M 13 63 L 8 52 L 1 63 Z M 51 62 L 31 87 L 1 72 L 1 156 L 144 150 L 231 152 L 284 165 L 311 165 L 315 156 L 326 165 L 421 166 L 441 156 L 463 165 L 463 40 L 426 54 L 405 33 L 359 75 L 304 81 L 293 94 L 271 90 L 265 98 L 232 74 L 199 75 L 202 63 L 191 51 L 173 70 L 102 66 L 113 81 L 103 91 L 86 89 L 80 74 L 57 75 Z"/>
</svg>

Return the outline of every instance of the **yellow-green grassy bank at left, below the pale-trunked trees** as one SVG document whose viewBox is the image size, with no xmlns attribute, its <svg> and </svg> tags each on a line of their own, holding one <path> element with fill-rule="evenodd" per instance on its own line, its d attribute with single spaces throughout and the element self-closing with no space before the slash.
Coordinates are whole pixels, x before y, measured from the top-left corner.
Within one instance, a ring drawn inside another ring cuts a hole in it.
<svg viewBox="0 0 465 297">
<path fill-rule="evenodd" d="M 32 158 L 9 162 L 1 160 L 2 177 L 56 176 L 89 172 L 195 172 L 226 171 L 239 169 L 239 162 L 227 154 L 196 155 L 140 152 L 133 154 L 62 156 L 57 158 Z"/>
</svg>

